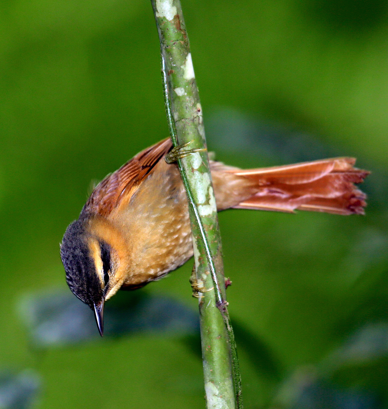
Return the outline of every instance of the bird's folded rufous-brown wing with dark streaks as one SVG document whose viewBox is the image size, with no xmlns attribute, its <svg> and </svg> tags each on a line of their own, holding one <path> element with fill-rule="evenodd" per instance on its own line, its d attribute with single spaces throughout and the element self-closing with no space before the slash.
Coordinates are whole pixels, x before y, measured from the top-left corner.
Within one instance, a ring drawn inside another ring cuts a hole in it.
<svg viewBox="0 0 388 409">
<path fill-rule="evenodd" d="M 83 212 L 109 215 L 122 198 L 132 196 L 139 184 L 171 148 L 171 139 L 163 139 L 138 153 L 116 172 L 107 175 L 91 193 Z"/>
</svg>

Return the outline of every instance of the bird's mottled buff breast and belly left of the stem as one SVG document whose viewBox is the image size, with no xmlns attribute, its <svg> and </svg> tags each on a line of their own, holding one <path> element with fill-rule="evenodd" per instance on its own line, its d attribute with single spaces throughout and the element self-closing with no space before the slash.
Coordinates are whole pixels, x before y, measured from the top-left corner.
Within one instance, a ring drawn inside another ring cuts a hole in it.
<svg viewBox="0 0 388 409">
<path fill-rule="evenodd" d="M 161 278 L 193 255 L 187 198 L 178 169 L 169 166 L 166 172 L 155 172 L 130 207 L 130 260 L 123 285 L 136 287 Z"/>
</svg>

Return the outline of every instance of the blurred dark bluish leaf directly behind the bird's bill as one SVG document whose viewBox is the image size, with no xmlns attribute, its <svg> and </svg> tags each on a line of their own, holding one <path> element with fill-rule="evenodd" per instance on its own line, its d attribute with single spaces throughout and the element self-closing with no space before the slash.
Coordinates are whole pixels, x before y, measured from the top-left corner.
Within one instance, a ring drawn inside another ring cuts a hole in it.
<svg viewBox="0 0 388 409">
<path fill-rule="evenodd" d="M 98 337 L 89 306 L 69 291 L 53 291 L 25 297 L 19 310 L 37 346 L 64 345 Z M 104 311 L 104 335 L 118 336 L 138 331 L 165 335 L 198 333 L 198 316 L 168 297 L 144 291 L 121 292 Z"/>
</svg>

